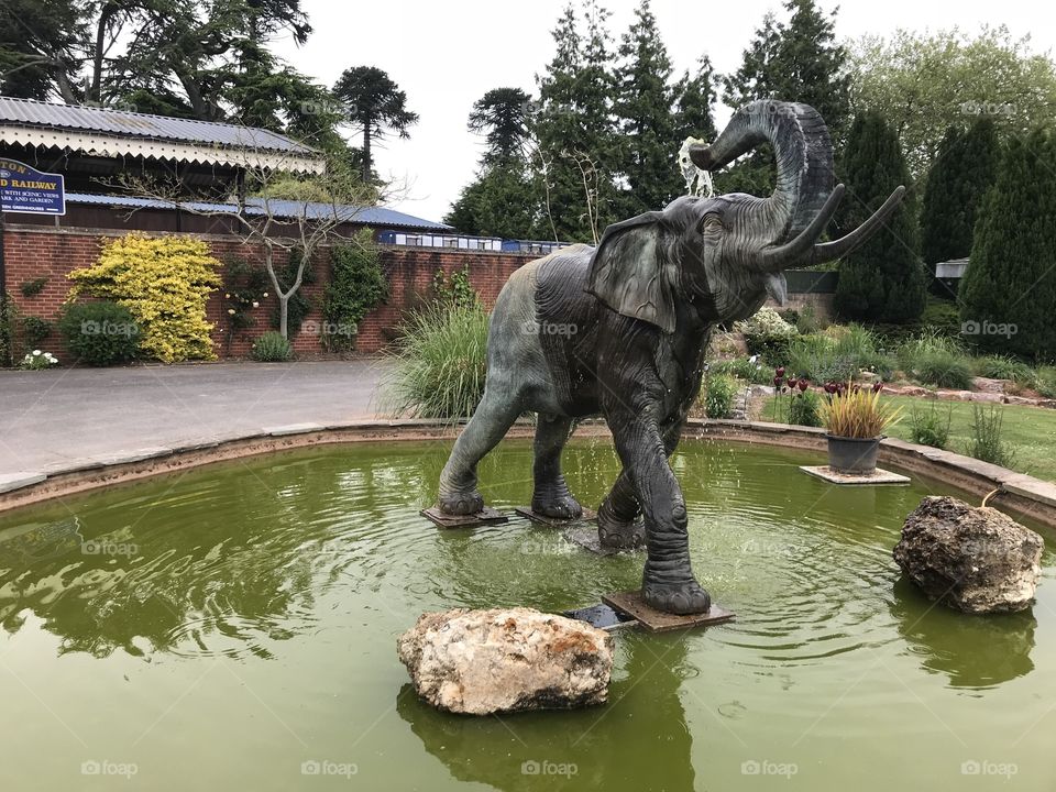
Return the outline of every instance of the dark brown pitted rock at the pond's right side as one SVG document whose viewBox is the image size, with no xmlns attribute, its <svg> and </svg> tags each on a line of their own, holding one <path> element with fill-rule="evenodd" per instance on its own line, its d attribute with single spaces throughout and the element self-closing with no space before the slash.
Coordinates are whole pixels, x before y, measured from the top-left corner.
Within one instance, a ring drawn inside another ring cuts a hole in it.
<svg viewBox="0 0 1056 792">
<path fill-rule="evenodd" d="M 967 613 L 1023 610 L 1045 542 L 994 508 L 926 497 L 902 528 L 894 560 L 931 600 Z"/>
</svg>

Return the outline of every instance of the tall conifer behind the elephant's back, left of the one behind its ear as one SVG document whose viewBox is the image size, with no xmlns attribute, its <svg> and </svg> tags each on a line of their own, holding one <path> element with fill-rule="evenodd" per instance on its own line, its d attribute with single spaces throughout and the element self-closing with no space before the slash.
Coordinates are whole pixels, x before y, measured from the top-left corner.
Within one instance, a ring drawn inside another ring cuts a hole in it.
<svg viewBox="0 0 1056 792">
<path fill-rule="evenodd" d="M 608 12 L 596 0 L 585 0 L 583 8 L 584 35 L 570 4 L 553 31 L 557 53 L 538 78 L 532 165 L 542 204 L 536 235 L 590 242 L 616 217 L 610 170 L 616 135 Z"/>
</svg>

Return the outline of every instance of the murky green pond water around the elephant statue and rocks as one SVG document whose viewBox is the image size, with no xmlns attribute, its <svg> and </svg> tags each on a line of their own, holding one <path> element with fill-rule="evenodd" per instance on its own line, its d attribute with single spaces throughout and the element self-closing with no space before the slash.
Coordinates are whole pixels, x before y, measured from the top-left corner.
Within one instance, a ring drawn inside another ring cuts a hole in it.
<svg viewBox="0 0 1056 792">
<path fill-rule="evenodd" d="M 785 450 L 672 461 L 736 623 L 616 634 L 603 707 L 432 711 L 396 659 L 419 614 L 594 604 L 642 562 L 519 519 L 438 530 L 418 510 L 449 447 L 302 450 L 0 515 L 0 790 L 1056 788 L 1053 553 L 1031 613 L 933 607 L 891 548 L 953 491 L 833 487 Z M 610 444 L 564 459 L 596 506 Z M 525 504 L 529 443 L 481 473 L 492 505 Z"/>
</svg>

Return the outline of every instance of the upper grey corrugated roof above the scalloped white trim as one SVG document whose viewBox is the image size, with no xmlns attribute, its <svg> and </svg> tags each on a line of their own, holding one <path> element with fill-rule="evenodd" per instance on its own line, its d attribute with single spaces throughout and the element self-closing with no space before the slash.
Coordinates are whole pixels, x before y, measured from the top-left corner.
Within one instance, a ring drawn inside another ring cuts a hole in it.
<svg viewBox="0 0 1056 792">
<path fill-rule="evenodd" d="M 56 105 L 6 96 L 0 96 L 0 123 L 108 132 L 116 135 L 182 141 L 223 148 L 261 148 L 307 155 L 317 153 L 314 148 L 301 145 L 285 135 L 256 127 L 151 116 L 80 105 Z"/>
</svg>

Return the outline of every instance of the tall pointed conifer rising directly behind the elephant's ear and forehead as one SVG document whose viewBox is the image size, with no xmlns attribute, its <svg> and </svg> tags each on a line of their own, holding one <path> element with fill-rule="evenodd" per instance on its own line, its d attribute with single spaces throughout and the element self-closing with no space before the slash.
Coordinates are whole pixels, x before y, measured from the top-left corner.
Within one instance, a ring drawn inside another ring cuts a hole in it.
<svg viewBox="0 0 1056 792">
<path fill-rule="evenodd" d="M 618 54 L 614 110 L 620 132 L 619 162 L 627 180 L 618 208 L 622 217 L 630 217 L 661 209 L 678 195 L 682 182 L 675 162 L 681 140 L 672 113 L 673 69 L 649 0 L 638 6 Z"/>
</svg>

